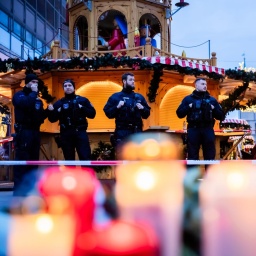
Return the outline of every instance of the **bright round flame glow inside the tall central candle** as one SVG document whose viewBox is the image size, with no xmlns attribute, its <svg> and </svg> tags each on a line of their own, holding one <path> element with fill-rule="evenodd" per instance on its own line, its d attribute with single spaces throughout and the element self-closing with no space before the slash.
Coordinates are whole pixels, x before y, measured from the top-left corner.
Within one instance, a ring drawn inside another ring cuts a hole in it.
<svg viewBox="0 0 256 256">
<path fill-rule="evenodd" d="M 150 166 L 141 166 L 135 177 L 135 184 L 141 190 L 151 190 L 156 185 L 154 169 Z"/>
</svg>

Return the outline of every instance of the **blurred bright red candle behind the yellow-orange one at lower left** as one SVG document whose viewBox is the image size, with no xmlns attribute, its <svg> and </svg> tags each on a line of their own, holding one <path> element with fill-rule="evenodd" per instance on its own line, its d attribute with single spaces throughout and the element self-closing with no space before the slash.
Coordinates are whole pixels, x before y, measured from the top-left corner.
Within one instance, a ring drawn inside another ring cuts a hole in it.
<svg viewBox="0 0 256 256">
<path fill-rule="evenodd" d="M 53 167 L 45 170 L 38 184 L 39 190 L 46 198 L 65 196 L 72 205 L 76 223 L 73 256 L 83 255 L 76 240 L 93 225 L 96 182 L 92 169 Z"/>
</svg>

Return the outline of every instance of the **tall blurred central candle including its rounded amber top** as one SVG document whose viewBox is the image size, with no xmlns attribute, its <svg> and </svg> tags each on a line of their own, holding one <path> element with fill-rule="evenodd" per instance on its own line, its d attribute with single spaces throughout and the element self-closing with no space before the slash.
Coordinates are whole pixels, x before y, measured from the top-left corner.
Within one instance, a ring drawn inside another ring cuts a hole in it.
<svg viewBox="0 0 256 256">
<path fill-rule="evenodd" d="M 159 237 L 163 256 L 180 253 L 185 168 L 172 161 L 179 155 L 176 141 L 167 134 L 136 134 L 124 146 L 122 157 L 141 161 L 116 169 L 121 218 L 149 223 Z"/>
</svg>

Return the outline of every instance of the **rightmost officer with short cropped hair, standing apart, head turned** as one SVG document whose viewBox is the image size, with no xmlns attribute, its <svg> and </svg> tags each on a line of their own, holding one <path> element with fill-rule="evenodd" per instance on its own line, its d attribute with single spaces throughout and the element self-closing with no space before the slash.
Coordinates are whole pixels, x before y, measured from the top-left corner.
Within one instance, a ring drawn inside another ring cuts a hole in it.
<svg viewBox="0 0 256 256">
<path fill-rule="evenodd" d="M 205 160 L 215 159 L 215 119 L 223 120 L 224 113 L 215 98 L 207 91 L 204 78 L 195 80 L 195 90 L 186 96 L 176 110 L 179 118 L 187 116 L 188 123 L 188 159 L 199 160 L 199 149 L 202 145 Z"/>
</svg>

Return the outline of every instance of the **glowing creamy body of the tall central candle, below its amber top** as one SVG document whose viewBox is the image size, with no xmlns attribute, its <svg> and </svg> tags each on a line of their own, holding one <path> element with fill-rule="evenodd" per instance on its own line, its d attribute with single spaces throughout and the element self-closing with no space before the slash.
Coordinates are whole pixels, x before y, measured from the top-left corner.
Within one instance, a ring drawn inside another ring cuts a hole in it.
<svg viewBox="0 0 256 256">
<path fill-rule="evenodd" d="M 184 168 L 172 161 L 142 161 L 116 170 L 121 218 L 149 223 L 163 256 L 179 255 Z"/>
</svg>

